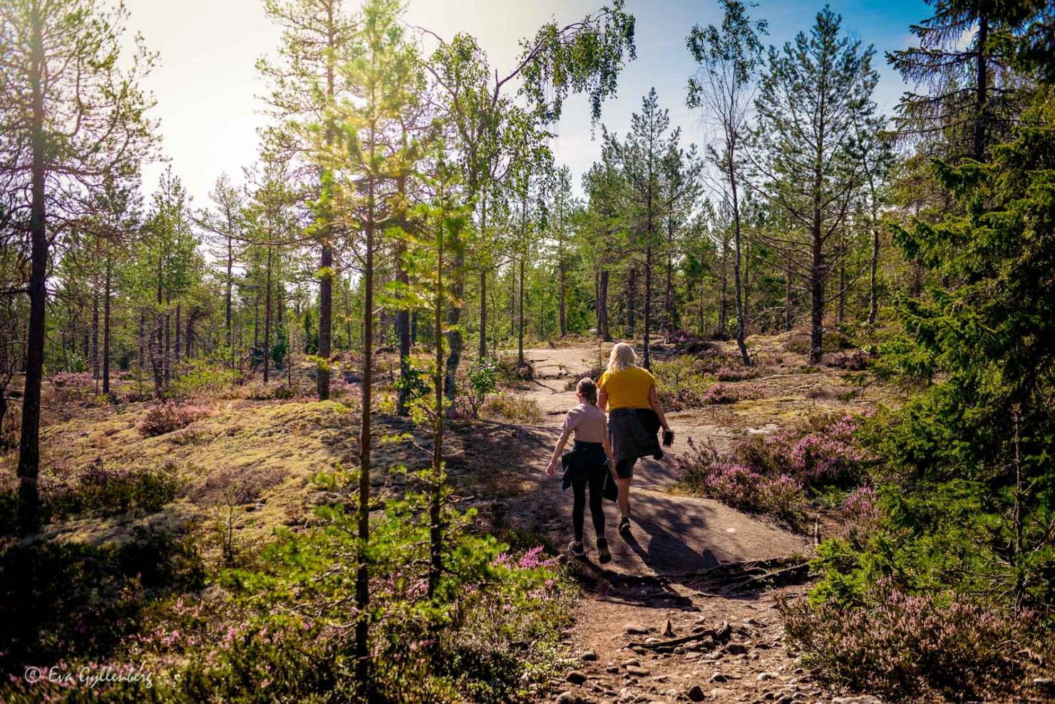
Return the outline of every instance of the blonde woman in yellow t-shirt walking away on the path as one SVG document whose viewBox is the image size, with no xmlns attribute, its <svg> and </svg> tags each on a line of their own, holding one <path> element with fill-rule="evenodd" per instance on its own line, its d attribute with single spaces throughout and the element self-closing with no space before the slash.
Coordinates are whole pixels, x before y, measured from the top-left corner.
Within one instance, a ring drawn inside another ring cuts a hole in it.
<svg viewBox="0 0 1055 704">
<path fill-rule="evenodd" d="M 638 457 L 663 456 L 656 432 L 661 426 L 671 437 L 670 426 L 656 394 L 656 380 L 647 369 L 637 366 L 634 348 L 619 343 L 612 348 L 608 370 L 597 383 L 597 406 L 609 414 L 609 433 L 615 455 L 619 487 L 619 532 L 630 531 L 630 481 Z"/>
</svg>

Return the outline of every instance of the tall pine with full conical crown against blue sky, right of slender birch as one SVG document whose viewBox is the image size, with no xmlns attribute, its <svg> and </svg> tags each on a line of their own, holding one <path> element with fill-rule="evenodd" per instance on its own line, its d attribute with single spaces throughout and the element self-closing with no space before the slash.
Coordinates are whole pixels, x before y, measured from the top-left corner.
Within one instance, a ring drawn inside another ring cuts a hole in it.
<svg viewBox="0 0 1055 704">
<path fill-rule="evenodd" d="M 753 188 L 806 234 L 769 242 L 809 282 L 810 364 L 821 360 L 831 251 L 864 179 L 856 130 L 875 111 L 878 80 L 875 50 L 843 36 L 841 25 L 825 7 L 808 36 L 771 46 L 755 100 Z"/>
</svg>

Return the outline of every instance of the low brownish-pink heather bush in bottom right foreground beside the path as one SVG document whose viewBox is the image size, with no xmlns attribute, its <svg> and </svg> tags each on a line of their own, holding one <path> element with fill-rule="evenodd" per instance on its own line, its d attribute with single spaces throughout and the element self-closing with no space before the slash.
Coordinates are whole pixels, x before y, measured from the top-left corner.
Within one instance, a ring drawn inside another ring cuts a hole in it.
<svg viewBox="0 0 1055 704">
<path fill-rule="evenodd" d="M 825 680 L 891 701 L 1008 701 L 1024 671 L 1018 621 L 952 595 L 913 595 L 880 581 L 856 605 L 782 602 L 803 664 Z"/>
</svg>

